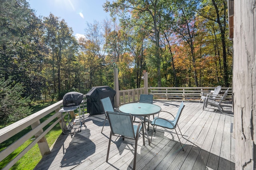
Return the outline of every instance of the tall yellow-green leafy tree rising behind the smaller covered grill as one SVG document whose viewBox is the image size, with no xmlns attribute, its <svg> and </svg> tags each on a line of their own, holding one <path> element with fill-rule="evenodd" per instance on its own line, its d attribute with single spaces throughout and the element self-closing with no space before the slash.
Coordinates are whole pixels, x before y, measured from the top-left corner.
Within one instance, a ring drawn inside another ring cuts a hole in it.
<svg viewBox="0 0 256 170">
<path fill-rule="evenodd" d="M 74 57 L 77 48 L 77 42 L 72 36 L 72 28 L 69 28 L 67 23 L 62 19 L 59 20 L 58 17 L 50 13 L 49 17 L 44 18 L 44 27 L 46 29 L 44 35 L 44 42 L 48 45 L 51 51 L 51 59 L 48 61 L 51 65 L 51 83 L 54 85 L 54 93 L 58 93 L 57 99 L 62 99 L 62 78 L 65 77 L 61 72 L 62 68 L 70 67 L 70 63 L 63 62 L 66 58 Z M 65 89 L 66 90 L 66 89 Z M 51 94 L 52 96 L 52 94 Z"/>
</svg>

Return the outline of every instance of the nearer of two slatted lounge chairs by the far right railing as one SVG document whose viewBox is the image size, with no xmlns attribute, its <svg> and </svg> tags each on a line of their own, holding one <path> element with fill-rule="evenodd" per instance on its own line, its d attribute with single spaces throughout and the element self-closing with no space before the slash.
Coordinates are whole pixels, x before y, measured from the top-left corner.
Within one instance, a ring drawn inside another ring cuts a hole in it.
<svg viewBox="0 0 256 170">
<path fill-rule="evenodd" d="M 205 99 L 205 107 L 207 107 L 207 105 L 218 107 L 219 111 L 221 113 L 223 113 L 223 108 L 221 106 L 221 102 L 224 101 L 224 99 L 227 97 L 228 90 L 229 90 L 229 88 L 225 91 L 223 96 L 220 96 L 220 95 L 209 95 Z"/>
</svg>

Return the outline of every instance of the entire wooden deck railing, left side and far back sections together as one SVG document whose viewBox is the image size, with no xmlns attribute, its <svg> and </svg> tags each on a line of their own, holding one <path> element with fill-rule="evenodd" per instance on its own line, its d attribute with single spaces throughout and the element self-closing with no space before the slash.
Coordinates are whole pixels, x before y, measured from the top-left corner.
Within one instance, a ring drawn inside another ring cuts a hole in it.
<svg viewBox="0 0 256 170">
<path fill-rule="evenodd" d="M 162 98 L 162 99 L 200 99 L 201 92 L 207 92 L 213 90 L 214 87 L 149 87 L 148 94 L 154 95 L 154 99 Z M 225 91 L 227 88 L 222 88 L 222 91 Z M 132 103 L 139 101 L 140 94 L 145 94 L 145 88 L 138 89 L 129 89 L 129 90 L 120 90 L 119 93 L 119 105 L 123 105 L 125 103 Z M 230 88 L 227 99 L 232 99 L 232 89 Z M 86 103 L 86 95 L 84 95 L 84 102 Z M 36 143 L 39 146 L 40 152 L 42 156 L 50 153 L 50 147 L 46 141 L 45 135 L 52 130 L 52 128 L 60 123 L 60 127 L 62 127 L 62 119 L 61 113 L 58 111 L 62 107 L 62 100 L 38 111 L 20 121 L 13 123 L 7 127 L 0 129 L 0 143 L 8 140 L 12 136 L 21 132 L 27 127 L 32 127 L 30 132 L 24 134 L 21 138 L 13 142 L 10 146 L 6 147 L 4 150 L 0 152 L 0 162 L 4 160 L 8 155 L 12 154 L 14 150 L 16 150 L 19 146 L 21 146 L 25 141 L 30 140 L 33 136 L 35 139 L 31 142 L 18 156 L 16 156 L 13 160 L 11 160 L 3 170 L 10 169 L 28 150 L 30 150 Z M 50 113 L 55 112 L 51 117 L 49 117 L 46 121 L 40 122 L 40 119 L 48 116 Z M 66 115 L 65 113 L 64 115 Z M 75 116 L 74 112 L 70 113 L 71 117 Z M 56 119 L 52 125 L 50 125 L 46 130 L 43 130 L 49 123 L 51 123 L 54 119 Z"/>
</svg>

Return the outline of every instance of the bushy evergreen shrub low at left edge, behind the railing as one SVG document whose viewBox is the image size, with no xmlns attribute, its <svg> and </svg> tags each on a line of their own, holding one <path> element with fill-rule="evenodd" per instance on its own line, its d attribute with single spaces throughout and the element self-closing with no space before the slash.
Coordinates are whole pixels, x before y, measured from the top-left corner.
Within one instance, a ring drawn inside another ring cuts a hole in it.
<svg viewBox="0 0 256 170">
<path fill-rule="evenodd" d="M 30 99 L 22 97 L 24 87 L 20 83 L 0 79 L 0 122 L 18 121 L 31 114 Z"/>
</svg>

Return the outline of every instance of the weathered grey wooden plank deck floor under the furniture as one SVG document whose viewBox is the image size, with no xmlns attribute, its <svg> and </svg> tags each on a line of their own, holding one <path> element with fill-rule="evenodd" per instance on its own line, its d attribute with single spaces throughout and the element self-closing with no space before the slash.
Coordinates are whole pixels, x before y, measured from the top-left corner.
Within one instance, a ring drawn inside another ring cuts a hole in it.
<svg viewBox="0 0 256 170">
<path fill-rule="evenodd" d="M 176 114 L 181 101 L 154 100 L 162 110 Z M 175 131 L 159 128 L 153 134 L 149 146 L 145 138 L 138 141 L 136 169 L 141 170 L 234 170 L 235 140 L 232 133 L 232 103 L 223 103 L 225 110 L 221 114 L 214 107 L 202 110 L 198 101 L 184 101 L 184 110 L 179 120 L 182 150 Z M 165 114 L 162 117 L 167 116 Z M 51 153 L 44 156 L 35 170 L 112 170 L 132 169 L 134 141 L 113 137 L 110 156 L 106 162 L 110 127 L 104 123 L 105 115 L 85 115 L 86 121 L 81 132 L 61 134 L 51 148 Z M 166 117 L 167 119 L 169 117 Z M 151 117 L 152 119 L 152 117 Z M 149 135 L 152 134 L 150 125 Z M 180 134 L 180 132 L 178 132 Z"/>
</svg>

